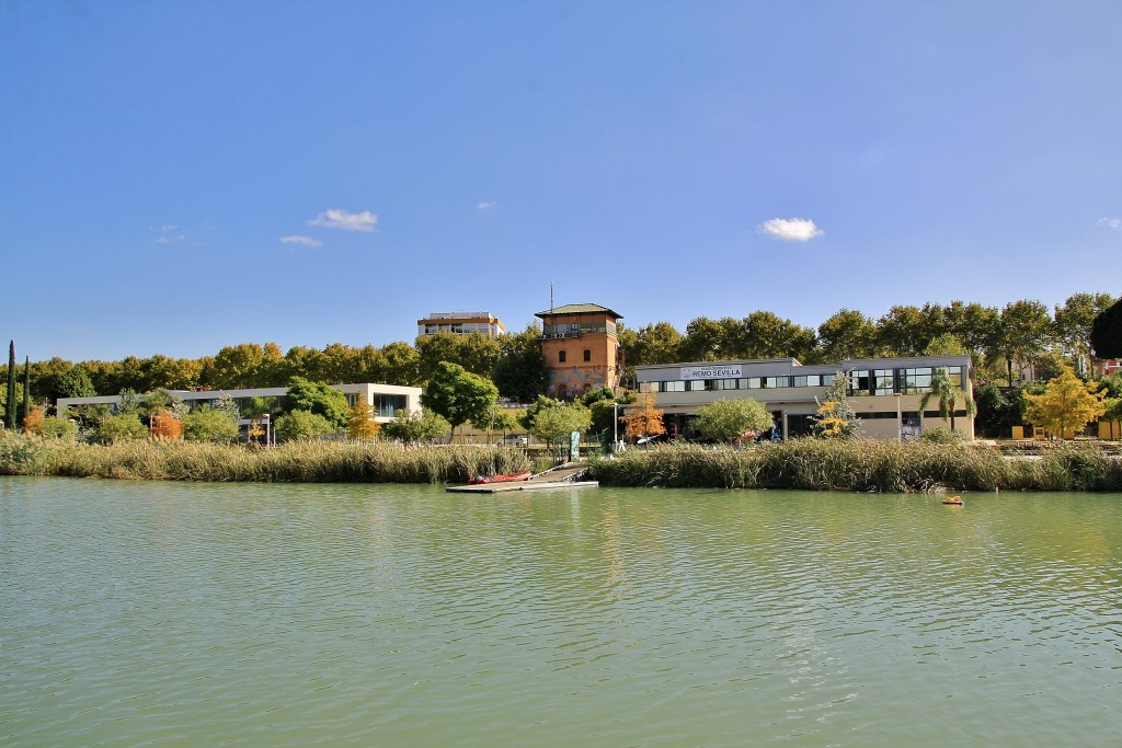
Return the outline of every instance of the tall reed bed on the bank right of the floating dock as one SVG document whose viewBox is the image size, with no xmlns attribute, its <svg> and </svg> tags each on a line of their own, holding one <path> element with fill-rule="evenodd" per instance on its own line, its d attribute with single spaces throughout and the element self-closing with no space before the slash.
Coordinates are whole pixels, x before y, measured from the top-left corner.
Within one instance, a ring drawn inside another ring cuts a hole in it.
<svg viewBox="0 0 1122 748">
<path fill-rule="evenodd" d="M 609 486 L 827 491 L 1122 491 L 1122 459 L 1092 444 L 1031 458 L 984 444 L 798 438 L 748 449 L 668 444 L 595 460 Z"/>
</svg>

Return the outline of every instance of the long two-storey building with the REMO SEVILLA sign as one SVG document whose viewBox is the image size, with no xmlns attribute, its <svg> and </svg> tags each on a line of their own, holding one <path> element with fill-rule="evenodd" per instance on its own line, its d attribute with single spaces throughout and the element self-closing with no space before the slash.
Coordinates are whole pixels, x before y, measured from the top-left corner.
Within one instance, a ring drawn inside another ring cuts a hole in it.
<svg viewBox="0 0 1122 748">
<path fill-rule="evenodd" d="M 965 405 L 974 393 L 968 355 L 846 359 L 808 366 L 795 359 L 670 363 L 637 367 L 635 375 L 640 391 L 655 396 L 671 438 L 692 437 L 690 422 L 699 407 L 734 398 L 766 404 L 779 438 L 807 435 L 818 399 L 838 372 L 849 375 L 848 400 L 861 418 L 863 437 L 912 438 L 923 428 L 951 426 L 950 418 L 939 415 L 936 398 L 920 413 L 920 401 L 938 369 L 945 369 L 964 393 L 955 408 L 954 430 L 974 438 L 974 419 Z"/>
</svg>

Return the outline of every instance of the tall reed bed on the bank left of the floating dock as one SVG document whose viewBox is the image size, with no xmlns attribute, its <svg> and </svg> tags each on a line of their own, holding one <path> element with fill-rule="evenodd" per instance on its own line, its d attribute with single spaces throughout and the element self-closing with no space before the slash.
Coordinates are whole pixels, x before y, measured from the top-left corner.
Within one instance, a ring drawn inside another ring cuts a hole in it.
<svg viewBox="0 0 1122 748">
<path fill-rule="evenodd" d="M 292 442 L 275 449 L 190 442 L 74 444 L 0 436 L 0 474 L 187 481 L 465 482 L 473 475 L 528 470 L 523 450 L 374 442 Z"/>
</svg>

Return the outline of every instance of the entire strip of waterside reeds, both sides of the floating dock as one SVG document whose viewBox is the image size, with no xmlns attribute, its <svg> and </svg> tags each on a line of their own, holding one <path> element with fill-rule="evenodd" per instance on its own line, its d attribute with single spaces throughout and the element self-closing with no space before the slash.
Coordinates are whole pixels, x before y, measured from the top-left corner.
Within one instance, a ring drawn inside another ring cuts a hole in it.
<svg viewBox="0 0 1122 748">
<path fill-rule="evenodd" d="M 0 474 L 214 482 L 462 483 L 534 469 L 512 446 L 292 442 L 273 449 L 136 441 L 116 445 L 0 435 Z M 541 465 L 537 465 L 541 469 Z M 1096 444 L 1005 456 L 984 444 L 798 438 L 747 449 L 668 444 L 592 458 L 604 486 L 941 491 L 1122 491 L 1122 458 Z"/>
</svg>

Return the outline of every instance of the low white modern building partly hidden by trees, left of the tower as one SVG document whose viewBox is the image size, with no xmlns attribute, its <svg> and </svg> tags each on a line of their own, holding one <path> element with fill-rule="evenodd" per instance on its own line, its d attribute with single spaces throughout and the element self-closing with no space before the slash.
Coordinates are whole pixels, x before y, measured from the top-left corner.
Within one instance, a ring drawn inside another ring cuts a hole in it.
<svg viewBox="0 0 1122 748">
<path fill-rule="evenodd" d="M 386 423 L 397 415 L 414 413 L 421 409 L 421 388 L 401 387 L 397 385 L 332 385 L 347 396 L 347 403 L 353 407 L 359 398 L 365 399 L 374 409 L 375 421 Z M 288 393 L 287 387 L 256 387 L 250 389 L 226 389 L 195 393 L 187 390 L 169 390 L 172 395 L 187 404 L 192 409 L 203 405 L 214 406 L 223 397 L 232 398 L 238 409 L 247 413 L 250 400 L 260 398 L 270 410 L 279 409 L 280 399 Z M 120 395 L 96 397 L 61 397 L 57 403 L 58 417 L 65 418 L 70 408 L 82 405 L 108 405 L 116 409 L 120 405 Z"/>
</svg>

